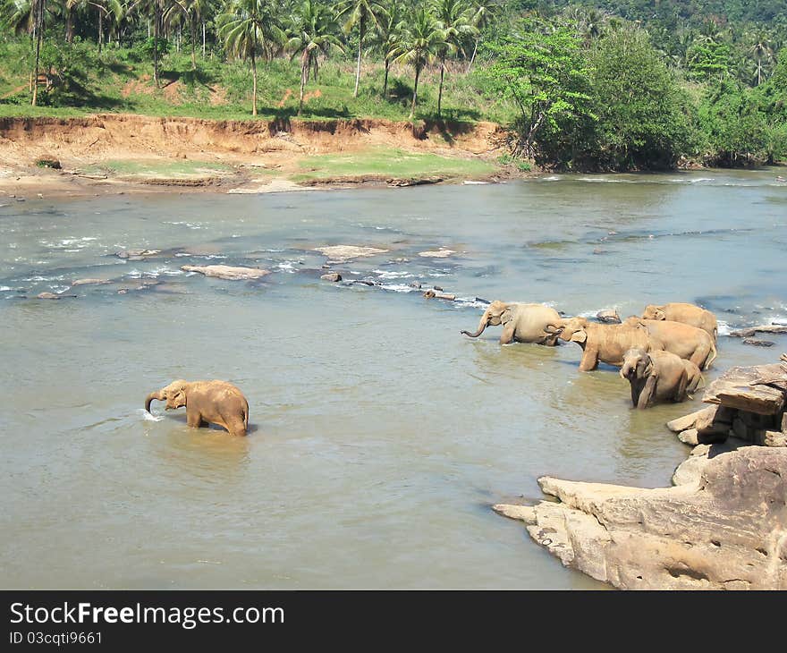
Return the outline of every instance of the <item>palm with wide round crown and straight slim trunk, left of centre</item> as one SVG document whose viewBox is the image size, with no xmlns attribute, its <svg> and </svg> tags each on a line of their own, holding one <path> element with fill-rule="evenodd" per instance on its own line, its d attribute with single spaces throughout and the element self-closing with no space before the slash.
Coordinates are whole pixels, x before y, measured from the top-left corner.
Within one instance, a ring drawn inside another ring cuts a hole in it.
<svg viewBox="0 0 787 653">
<path fill-rule="evenodd" d="M 230 55 L 251 61 L 251 114 L 257 115 L 257 56 L 283 40 L 275 23 L 275 7 L 267 0 L 234 0 L 216 19 L 218 35 Z"/>
</svg>

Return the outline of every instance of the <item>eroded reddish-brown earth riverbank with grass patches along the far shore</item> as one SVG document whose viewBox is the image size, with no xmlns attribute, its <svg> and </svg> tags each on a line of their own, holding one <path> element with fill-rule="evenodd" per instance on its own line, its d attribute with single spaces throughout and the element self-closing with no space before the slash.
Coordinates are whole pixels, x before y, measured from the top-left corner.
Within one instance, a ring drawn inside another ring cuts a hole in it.
<svg viewBox="0 0 787 653">
<path fill-rule="evenodd" d="M 17 199 L 173 188 L 256 193 L 523 175 L 500 163 L 504 140 L 502 127 L 484 122 L 5 117 L 0 191 Z"/>
</svg>

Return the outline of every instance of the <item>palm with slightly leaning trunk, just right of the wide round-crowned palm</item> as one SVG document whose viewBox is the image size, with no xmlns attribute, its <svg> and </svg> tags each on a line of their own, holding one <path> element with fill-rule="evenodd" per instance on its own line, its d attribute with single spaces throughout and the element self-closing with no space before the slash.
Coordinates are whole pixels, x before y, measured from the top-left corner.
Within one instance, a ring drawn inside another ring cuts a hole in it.
<svg viewBox="0 0 787 653">
<path fill-rule="evenodd" d="M 343 52 L 343 47 L 336 36 L 334 13 L 325 4 L 305 0 L 292 14 L 291 20 L 292 37 L 287 41 L 287 48 L 292 51 L 292 59 L 300 55 L 300 115 L 303 112 L 303 90 L 312 72 L 317 81 L 319 55 L 327 56 L 331 50 Z"/>
</svg>

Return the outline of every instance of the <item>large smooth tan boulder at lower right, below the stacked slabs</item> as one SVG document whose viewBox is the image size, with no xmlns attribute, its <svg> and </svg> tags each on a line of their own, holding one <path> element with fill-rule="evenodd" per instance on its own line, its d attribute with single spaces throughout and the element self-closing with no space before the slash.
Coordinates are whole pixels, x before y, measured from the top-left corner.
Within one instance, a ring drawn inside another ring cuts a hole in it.
<svg viewBox="0 0 787 653">
<path fill-rule="evenodd" d="M 542 478 L 559 499 L 496 505 L 563 564 L 621 589 L 787 589 L 787 448 L 692 456 L 673 488 Z M 684 463 L 686 464 L 686 463 Z"/>
</svg>

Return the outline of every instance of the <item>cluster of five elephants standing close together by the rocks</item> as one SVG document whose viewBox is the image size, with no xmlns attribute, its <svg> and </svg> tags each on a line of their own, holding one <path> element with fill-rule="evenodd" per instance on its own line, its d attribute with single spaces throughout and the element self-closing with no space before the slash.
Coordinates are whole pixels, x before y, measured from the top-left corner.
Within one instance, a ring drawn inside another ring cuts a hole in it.
<svg viewBox="0 0 787 653">
<path fill-rule="evenodd" d="M 631 386 L 631 403 L 639 409 L 682 402 L 694 393 L 703 383 L 702 370 L 715 360 L 718 337 L 714 314 L 686 303 L 650 305 L 641 317 L 600 324 L 562 318 L 543 304 L 493 301 L 476 333 L 461 333 L 476 338 L 487 326 L 503 326 L 501 344 L 579 344 L 580 371 L 597 369 L 599 362 L 621 368 Z"/>
</svg>

